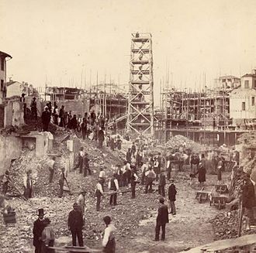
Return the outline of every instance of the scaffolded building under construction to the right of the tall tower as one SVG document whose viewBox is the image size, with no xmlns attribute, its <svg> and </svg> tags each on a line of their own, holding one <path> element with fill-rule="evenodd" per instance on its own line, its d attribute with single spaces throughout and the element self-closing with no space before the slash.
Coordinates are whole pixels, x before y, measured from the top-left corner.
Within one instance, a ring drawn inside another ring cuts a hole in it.
<svg viewBox="0 0 256 253">
<path fill-rule="evenodd" d="M 162 91 L 162 117 L 157 136 L 167 141 L 172 135 L 185 135 L 202 144 L 234 145 L 246 129 L 237 128 L 230 118 L 230 92 L 239 87 L 220 85 L 202 92 Z M 220 78 L 223 82 L 223 78 Z"/>
</svg>

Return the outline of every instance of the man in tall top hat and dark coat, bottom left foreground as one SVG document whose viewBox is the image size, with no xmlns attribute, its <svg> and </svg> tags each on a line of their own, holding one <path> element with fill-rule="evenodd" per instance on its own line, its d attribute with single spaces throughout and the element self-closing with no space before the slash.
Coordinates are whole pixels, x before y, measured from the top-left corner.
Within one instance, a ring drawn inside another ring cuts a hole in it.
<svg viewBox="0 0 256 253">
<path fill-rule="evenodd" d="M 34 222 L 33 225 L 33 245 L 35 246 L 35 253 L 41 253 L 42 248 L 42 241 L 41 236 L 44 228 L 44 212 L 43 208 L 40 208 L 37 213 L 37 220 Z"/>
</svg>

